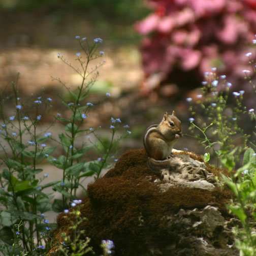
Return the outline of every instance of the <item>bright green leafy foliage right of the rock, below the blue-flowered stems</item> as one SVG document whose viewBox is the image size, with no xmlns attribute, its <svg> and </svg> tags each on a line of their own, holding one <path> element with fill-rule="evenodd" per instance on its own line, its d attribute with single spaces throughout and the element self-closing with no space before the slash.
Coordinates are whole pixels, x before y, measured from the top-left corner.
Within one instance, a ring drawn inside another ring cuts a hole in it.
<svg viewBox="0 0 256 256">
<path fill-rule="evenodd" d="M 237 237 L 236 245 L 241 255 L 253 256 L 256 253 L 256 235 L 253 229 L 256 224 L 256 154 L 254 150 L 248 148 L 245 151 L 243 166 L 236 171 L 233 179 L 224 175 L 222 178 L 235 196 L 228 208 L 239 218 L 243 227 L 234 229 Z"/>
</svg>

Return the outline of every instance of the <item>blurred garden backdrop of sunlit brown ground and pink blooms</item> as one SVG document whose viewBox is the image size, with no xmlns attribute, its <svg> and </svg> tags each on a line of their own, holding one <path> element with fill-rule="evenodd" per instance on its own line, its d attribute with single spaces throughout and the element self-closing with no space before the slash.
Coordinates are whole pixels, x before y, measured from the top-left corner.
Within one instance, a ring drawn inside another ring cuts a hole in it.
<svg viewBox="0 0 256 256">
<path fill-rule="evenodd" d="M 75 36 L 104 40 L 106 64 L 90 96 L 98 104 L 87 125 L 102 125 L 104 134 L 111 116 L 129 124 L 131 138 L 118 154 L 142 147 L 146 127 L 166 111 L 176 111 L 187 133 L 185 99 L 196 98 L 204 73 L 212 68 L 227 75 L 234 90 L 245 89 L 247 106 L 255 102 L 242 72 L 250 69 L 245 53 L 256 34 L 254 0 L 0 0 L 0 24 L 0 88 L 9 95 L 19 72 L 23 103 L 51 97 L 44 127 L 64 111 L 57 95 L 67 93 L 52 77 L 71 88 L 79 85 L 79 77 L 57 53 L 75 63 L 80 50 Z M 111 98 L 106 99 L 106 92 Z M 7 102 L 5 113 L 11 115 L 14 106 Z M 58 131 L 57 124 L 51 127 L 53 134 Z M 203 152 L 189 137 L 176 146 L 184 147 Z"/>
</svg>

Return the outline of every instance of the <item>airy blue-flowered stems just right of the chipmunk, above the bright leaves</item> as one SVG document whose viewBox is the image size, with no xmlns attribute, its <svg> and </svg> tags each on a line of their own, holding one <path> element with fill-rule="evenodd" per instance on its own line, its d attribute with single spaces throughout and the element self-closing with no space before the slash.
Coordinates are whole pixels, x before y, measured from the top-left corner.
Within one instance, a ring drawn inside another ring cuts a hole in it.
<svg viewBox="0 0 256 256">
<path fill-rule="evenodd" d="M 231 87 L 226 76 L 217 76 L 213 69 L 212 72 L 205 73 L 201 93 L 196 99 L 187 98 L 192 116 L 189 118 L 189 130 L 205 146 L 212 158 L 217 158 L 220 165 L 229 170 L 235 167 L 248 140 L 248 135 L 240 125 L 241 116 L 248 114 L 243 106 L 244 91 L 231 92 Z M 231 107 L 230 103 L 234 106 Z M 242 140 L 242 144 L 238 146 L 239 140 Z M 206 157 L 208 158 L 208 154 Z"/>
</svg>

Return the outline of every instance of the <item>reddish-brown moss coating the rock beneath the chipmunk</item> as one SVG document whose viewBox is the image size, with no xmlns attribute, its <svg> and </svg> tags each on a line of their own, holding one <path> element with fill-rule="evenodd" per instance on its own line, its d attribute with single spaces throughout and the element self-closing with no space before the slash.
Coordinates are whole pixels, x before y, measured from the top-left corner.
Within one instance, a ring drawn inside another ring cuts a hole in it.
<svg viewBox="0 0 256 256">
<path fill-rule="evenodd" d="M 203 162 L 201 156 L 184 153 Z M 222 171 L 209 165 L 207 168 L 215 175 Z M 225 204 L 230 198 L 228 190 L 170 187 L 161 193 L 153 182 L 155 178 L 157 176 L 147 166 L 145 151 L 138 149 L 123 154 L 103 178 L 88 185 L 88 198 L 81 212 L 88 218 L 83 228 L 96 252 L 100 252 L 102 239 L 111 239 L 116 245 L 116 255 L 139 256 L 147 248 L 145 241 L 164 244 L 170 241 L 170 234 L 165 237 L 163 216 L 176 213 L 180 208 L 203 208 L 206 205 L 226 211 Z M 63 214 L 57 221 L 58 233 L 67 229 L 69 223 Z"/>
</svg>

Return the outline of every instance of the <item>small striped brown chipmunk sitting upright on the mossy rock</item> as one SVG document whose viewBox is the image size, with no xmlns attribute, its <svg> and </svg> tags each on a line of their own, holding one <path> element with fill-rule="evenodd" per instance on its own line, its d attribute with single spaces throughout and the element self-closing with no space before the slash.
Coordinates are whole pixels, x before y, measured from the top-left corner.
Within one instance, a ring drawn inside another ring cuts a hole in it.
<svg viewBox="0 0 256 256">
<path fill-rule="evenodd" d="M 175 112 L 172 115 L 164 114 L 163 120 L 159 124 L 150 125 L 144 135 L 144 147 L 151 162 L 161 165 L 163 162 L 169 162 L 172 156 L 173 145 L 181 134 L 181 121 L 176 117 Z"/>
</svg>

